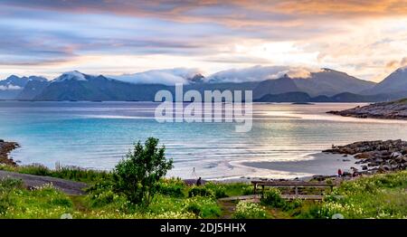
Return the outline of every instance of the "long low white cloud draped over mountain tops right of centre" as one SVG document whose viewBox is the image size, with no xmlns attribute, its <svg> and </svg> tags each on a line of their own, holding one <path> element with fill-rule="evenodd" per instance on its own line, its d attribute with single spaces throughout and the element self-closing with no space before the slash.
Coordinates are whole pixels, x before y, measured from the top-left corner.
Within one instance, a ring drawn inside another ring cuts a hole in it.
<svg viewBox="0 0 407 237">
<path fill-rule="evenodd" d="M 219 71 L 209 76 L 209 81 L 213 82 L 244 82 L 244 81 L 265 81 L 279 79 L 288 75 L 290 78 L 309 78 L 311 72 L 319 70 L 309 70 L 306 68 L 291 68 L 288 66 L 254 66 L 243 69 L 231 69 Z"/>
</svg>

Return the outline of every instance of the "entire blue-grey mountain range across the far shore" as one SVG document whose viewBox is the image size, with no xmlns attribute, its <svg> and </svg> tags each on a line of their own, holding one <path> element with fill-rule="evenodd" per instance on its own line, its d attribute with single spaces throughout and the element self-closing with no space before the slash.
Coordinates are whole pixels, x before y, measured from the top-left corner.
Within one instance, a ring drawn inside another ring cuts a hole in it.
<svg viewBox="0 0 407 237">
<path fill-rule="evenodd" d="M 236 71 L 222 71 L 205 78 L 197 71 L 180 69 L 123 76 L 70 71 L 52 81 L 38 76 L 12 75 L 0 81 L 0 100 L 152 101 L 158 90 L 175 92 L 174 81 L 183 83 L 184 91 L 201 93 L 204 90 L 252 90 L 253 100 L 263 102 L 374 102 L 407 97 L 407 67 L 394 71 L 379 83 L 331 69 L 310 72 L 306 77 L 283 73 L 268 79 L 264 73 L 264 78 L 248 77 L 241 81 L 237 81 L 238 77 L 232 72 Z"/>
</svg>

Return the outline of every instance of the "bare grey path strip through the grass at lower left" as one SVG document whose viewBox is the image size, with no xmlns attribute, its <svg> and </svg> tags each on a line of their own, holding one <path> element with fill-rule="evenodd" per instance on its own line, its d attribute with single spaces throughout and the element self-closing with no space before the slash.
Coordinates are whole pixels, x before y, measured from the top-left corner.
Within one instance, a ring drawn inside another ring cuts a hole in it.
<svg viewBox="0 0 407 237">
<path fill-rule="evenodd" d="M 39 176 L 39 175 L 25 175 L 8 171 L 0 170 L 0 179 L 3 178 L 15 178 L 22 179 L 24 185 L 28 188 L 35 186 L 42 186 L 46 184 L 52 184 L 55 188 L 61 190 L 65 194 L 80 195 L 85 194 L 83 188 L 87 185 L 80 182 L 74 182 L 70 180 L 65 180 L 62 178 L 54 178 L 49 176 Z"/>
</svg>

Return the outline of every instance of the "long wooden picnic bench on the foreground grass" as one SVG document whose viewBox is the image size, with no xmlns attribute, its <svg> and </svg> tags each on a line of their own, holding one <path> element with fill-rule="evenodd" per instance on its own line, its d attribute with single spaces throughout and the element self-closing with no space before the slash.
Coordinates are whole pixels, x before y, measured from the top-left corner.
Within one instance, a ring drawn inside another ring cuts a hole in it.
<svg viewBox="0 0 407 237">
<path fill-rule="evenodd" d="M 289 187 L 295 189 L 295 194 L 282 194 L 281 197 L 284 199 L 307 199 L 307 200 L 322 200 L 324 195 L 316 194 L 298 194 L 298 187 L 317 187 L 317 188 L 327 188 L 329 187 L 331 192 L 334 189 L 334 184 L 327 184 L 326 182 L 304 182 L 304 181 L 251 181 L 254 185 L 254 194 L 257 194 L 258 187 L 261 187 L 261 196 L 264 194 L 265 186 L 272 187 Z"/>
</svg>

